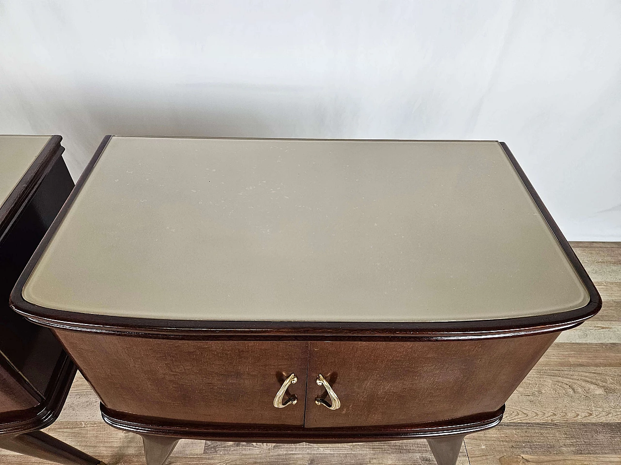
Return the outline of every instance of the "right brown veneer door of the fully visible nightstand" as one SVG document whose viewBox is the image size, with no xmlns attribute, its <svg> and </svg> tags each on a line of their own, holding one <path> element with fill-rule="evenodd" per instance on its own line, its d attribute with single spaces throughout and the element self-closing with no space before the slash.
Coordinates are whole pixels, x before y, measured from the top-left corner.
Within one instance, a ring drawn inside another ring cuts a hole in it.
<svg viewBox="0 0 621 465">
<path fill-rule="evenodd" d="M 306 427 L 425 423 L 499 409 L 558 333 L 468 341 L 311 342 Z M 328 379 L 341 401 L 315 404 Z"/>
</svg>

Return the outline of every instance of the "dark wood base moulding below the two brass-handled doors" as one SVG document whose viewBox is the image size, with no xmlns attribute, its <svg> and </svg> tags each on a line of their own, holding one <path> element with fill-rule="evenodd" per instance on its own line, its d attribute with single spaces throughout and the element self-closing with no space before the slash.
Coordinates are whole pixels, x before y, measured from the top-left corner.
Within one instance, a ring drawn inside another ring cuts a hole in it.
<svg viewBox="0 0 621 465">
<path fill-rule="evenodd" d="M 165 418 L 143 417 L 108 409 L 100 404 L 104 422 L 120 430 L 138 434 L 173 436 L 187 439 L 245 440 L 245 441 L 391 441 L 469 434 L 496 426 L 502 420 L 505 407 L 469 417 L 453 418 L 444 422 L 417 425 L 381 425 L 371 427 L 306 428 L 283 425 L 236 425 L 226 423 L 181 422 Z"/>
</svg>

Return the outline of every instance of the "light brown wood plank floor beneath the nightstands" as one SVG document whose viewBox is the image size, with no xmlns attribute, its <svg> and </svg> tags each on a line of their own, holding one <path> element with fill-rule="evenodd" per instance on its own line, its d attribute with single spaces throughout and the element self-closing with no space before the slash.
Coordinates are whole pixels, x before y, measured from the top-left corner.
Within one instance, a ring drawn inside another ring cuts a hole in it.
<svg viewBox="0 0 621 465">
<path fill-rule="evenodd" d="M 574 242 L 604 307 L 563 333 L 507 402 L 501 425 L 466 437 L 458 463 L 621 464 L 621 242 Z M 107 426 L 77 376 L 45 430 L 110 465 L 143 464 L 138 436 Z M 0 451 L 6 465 L 44 461 Z M 183 440 L 169 464 L 435 464 L 424 440 L 354 445 L 264 445 Z"/>
</svg>

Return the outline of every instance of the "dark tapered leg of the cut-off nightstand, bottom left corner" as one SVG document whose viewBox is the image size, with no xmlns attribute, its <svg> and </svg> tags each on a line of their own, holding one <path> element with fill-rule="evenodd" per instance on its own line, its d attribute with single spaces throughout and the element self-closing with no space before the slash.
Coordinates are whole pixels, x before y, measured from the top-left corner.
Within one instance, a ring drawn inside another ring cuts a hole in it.
<svg viewBox="0 0 621 465">
<path fill-rule="evenodd" d="M 106 465 L 42 431 L 0 436 L 0 448 L 63 465 Z"/>
</svg>

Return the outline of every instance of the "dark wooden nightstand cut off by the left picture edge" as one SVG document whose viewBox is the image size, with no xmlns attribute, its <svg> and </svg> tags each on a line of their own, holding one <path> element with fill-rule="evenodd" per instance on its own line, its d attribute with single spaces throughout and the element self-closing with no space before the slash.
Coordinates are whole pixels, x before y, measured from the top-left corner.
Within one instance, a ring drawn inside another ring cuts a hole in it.
<svg viewBox="0 0 621 465">
<path fill-rule="evenodd" d="M 17 315 L 9 294 L 73 180 L 60 136 L 0 136 L 0 448 L 68 465 L 99 460 L 39 431 L 60 414 L 73 365 L 52 332 Z"/>
</svg>

